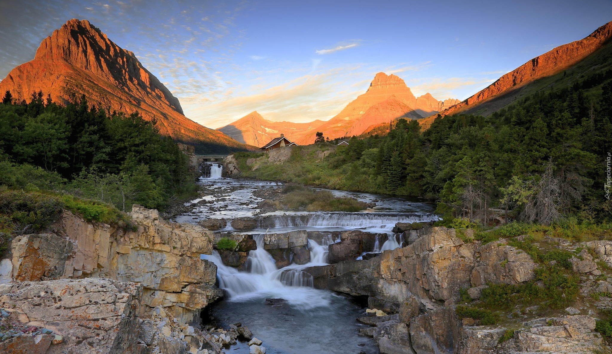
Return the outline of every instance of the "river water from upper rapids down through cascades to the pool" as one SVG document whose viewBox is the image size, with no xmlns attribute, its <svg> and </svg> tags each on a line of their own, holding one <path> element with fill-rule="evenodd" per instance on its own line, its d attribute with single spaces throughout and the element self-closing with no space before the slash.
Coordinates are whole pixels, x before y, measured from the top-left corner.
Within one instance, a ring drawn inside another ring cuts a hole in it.
<svg viewBox="0 0 612 354">
<path fill-rule="evenodd" d="M 267 233 L 285 233 L 294 230 L 345 231 L 360 229 L 379 233 L 373 252 L 400 247 L 403 240 L 391 229 L 397 222 L 436 220 L 429 204 L 404 198 L 332 190 L 338 197 L 353 197 L 365 202 L 375 202 L 374 208 L 362 212 L 272 212 L 261 214 L 258 203 L 261 198 L 253 192 L 258 189 L 279 188 L 276 182 L 249 181 L 220 178 L 211 168 L 210 178 L 200 179 L 207 192 L 190 202 L 193 211 L 180 215 L 177 222 L 197 222 L 207 218 L 231 220 L 258 215 L 258 225 L 253 230 L 240 233 L 253 234 L 257 249 L 250 251 L 245 270 L 223 265 L 214 251 L 203 258 L 217 264 L 219 286 L 225 289 L 226 298 L 210 309 L 220 325 L 242 322 L 264 342 L 266 353 L 271 354 L 349 354 L 378 353 L 371 338 L 359 336 L 363 328 L 356 318 L 364 316 L 364 308 L 351 298 L 334 292 L 314 289 L 312 276 L 302 272 L 306 267 L 327 264 L 327 248 L 338 242 L 329 237 L 308 240 L 310 262 L 298 266 L 291 264 L 277 269 L 272 256 L 264 249 L 263 238 Z M 261 215 L 260 215 L 261 214 Z M 231 226 L 222 231 L 232 231 Z M 384 240 L 384 242 L 383 242 Z M 282 298 L 285 301 L 266 305 L 266 298 Z M 248 353 L 248 345 L 239 342 L 225 350 L 226 353 Z"/>
</svg>

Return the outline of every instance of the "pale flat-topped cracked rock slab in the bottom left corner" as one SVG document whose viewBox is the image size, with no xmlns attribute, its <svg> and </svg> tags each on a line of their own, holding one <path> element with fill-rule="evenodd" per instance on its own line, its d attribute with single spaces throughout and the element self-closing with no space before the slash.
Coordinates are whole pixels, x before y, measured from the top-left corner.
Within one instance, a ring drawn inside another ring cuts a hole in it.
<svg viewBox="0 0 612 354">
<path fill-rule="evenodd" d="M 52 330 L 45 342 L 62 336 L 49 354 L 90 353 L 92 347 L 119 354 L 138 352 L 141 296 L 140 284 L 107 279 L 24 281 L 0 289 L 0 306 L 15 306 L 13 312 L 28 316 L 28 325 Z"/>
</svg>

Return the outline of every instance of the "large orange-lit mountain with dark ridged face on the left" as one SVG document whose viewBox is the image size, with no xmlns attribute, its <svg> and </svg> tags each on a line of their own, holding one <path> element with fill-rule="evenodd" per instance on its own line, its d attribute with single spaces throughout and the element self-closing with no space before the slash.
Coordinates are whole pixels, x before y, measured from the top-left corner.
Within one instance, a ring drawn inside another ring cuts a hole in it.
<svg viewBox="0 0 612 354">
<path fill-rule="evenodd" d="M 69 20 L 40 43 L 34 60 L 23 63 L 0 82 L 0 92 L 29 100 L 33 92 L 50 94 L 65 104 L 85 95 L 89 104 L 108 112 L 139 112 L 157 119 L 163 135 L 209 148 L 244 149 L 225 134 L 189 120 L 179 100 L 143 67 L 133 52 L 120 48 L 87 20 Z"/>
</svg>

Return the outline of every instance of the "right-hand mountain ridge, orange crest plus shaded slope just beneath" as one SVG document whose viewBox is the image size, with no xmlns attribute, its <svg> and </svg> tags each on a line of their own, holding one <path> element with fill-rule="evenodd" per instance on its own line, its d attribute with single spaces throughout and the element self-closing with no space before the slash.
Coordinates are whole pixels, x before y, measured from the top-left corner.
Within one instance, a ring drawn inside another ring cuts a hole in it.
<svg viewBox="0 0 612 354">
<path fill-rule="evenodd" d="M 580 66 L 581 61 L 588 59 L 599 49 L 609 46 L 610 37 L 612 37 L 612 21 L 599 27 L 588 37 L 558 46 L 529 60 L 529 62 L 505 74 L 487 88 L 445 110 L 442 115 L 457 113 L 490 115 L 516 99 L 558 81 L 559 78 L 552 80 L 547 80 L 547 78 L 563 73 L 574 65 Z M 605 61 L 591 60 L 588 65 L 582 66 L 584 68 L 599 67 L 602 64 L 605 64 Z M 428 126 L 433 119 L 435 117 L 428 117 L 421 123 Z"/>
</svg>

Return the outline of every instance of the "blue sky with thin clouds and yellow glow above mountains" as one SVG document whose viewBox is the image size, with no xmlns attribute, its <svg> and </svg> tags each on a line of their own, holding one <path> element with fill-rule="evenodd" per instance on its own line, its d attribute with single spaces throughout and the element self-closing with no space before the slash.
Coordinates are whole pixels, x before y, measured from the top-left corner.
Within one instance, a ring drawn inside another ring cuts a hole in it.
<svg viewBox="0 0 612 354">
<path fill-rule="evenodd" d="M 612 21 L 612 0 L 0 0 L 0 78 L 67 20 L 89 20 L 220 128 L 328 120 L 383 71 L 416 95 L 466 99 Z"/>
</svg>

